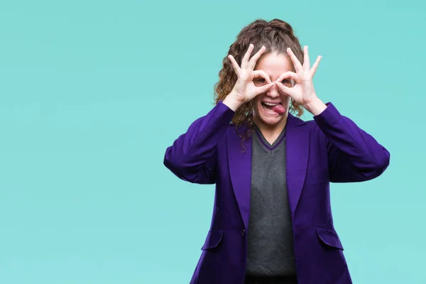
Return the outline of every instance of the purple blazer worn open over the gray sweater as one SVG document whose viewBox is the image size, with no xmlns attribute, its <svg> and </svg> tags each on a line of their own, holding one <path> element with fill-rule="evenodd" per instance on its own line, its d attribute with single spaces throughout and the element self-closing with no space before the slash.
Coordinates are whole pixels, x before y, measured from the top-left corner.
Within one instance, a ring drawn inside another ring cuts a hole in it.
<svg viewBox="0 0 426 284">
<path fill-rule="evenodd" d="M 178 178 L 216 184 L 212 224 L 190 283 L 243 284 L 250 234 L 251 139 L 230 124 L 234 111 L 219 102 L 194 121 L 165 152 Z M 372 136 L 328 104 L 313 121 L 289 114 L 287 186 L 293 222 L 297 281 L 349 284 L 343 246 L 334 229 L 329 182 L 378 177 L 390 154 Z"/>
</svg>

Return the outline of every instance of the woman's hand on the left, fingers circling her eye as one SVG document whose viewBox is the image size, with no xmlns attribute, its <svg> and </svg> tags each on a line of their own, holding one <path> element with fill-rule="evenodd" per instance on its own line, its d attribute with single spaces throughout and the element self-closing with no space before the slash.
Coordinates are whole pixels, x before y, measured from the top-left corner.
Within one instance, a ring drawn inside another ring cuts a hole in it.
<svg viewBox="0 0 426 284">
<path fill-rule="evenodd" d="M 265 52 L 266 48 L 262 46 L 258 52 L 250 58 L 251 52 L 253 51 L 254 45 L 250 44 L 244 58 L 241 60 L 241 67 L 238 65 L 232 55 L 228 55 L 229 60 L 234 67 L 234 71 L 237 76 L 236 83 L 231 93 L 224 99 L 224 104 L 236 111 L 241 104 L 251 101 L 258 94 L 267 92 L 273 86 L 273 82 L 269 76 L 263 70 L 254 70 L 257 60 L 261 57 L 262 53 Z M 249 60 L 250 58 L 250 60 Z M 261 87 L 256 87 L 253 80 L 258 77 L 263 77 L 268 84 L 264 84 Z"/>
</svg>

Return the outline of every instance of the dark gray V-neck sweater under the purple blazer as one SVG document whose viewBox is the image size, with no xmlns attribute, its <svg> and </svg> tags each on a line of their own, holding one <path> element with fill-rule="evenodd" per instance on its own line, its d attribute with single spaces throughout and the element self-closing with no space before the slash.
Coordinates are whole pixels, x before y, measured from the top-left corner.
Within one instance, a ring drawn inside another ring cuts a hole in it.
<svg viewBox="0 0 426 284">
<path fill-rule="evenodd" d="M 254 126 L 247 275 L 296 274 L 285 170 L 285 129 L 271 145 Z"/>
</svg>

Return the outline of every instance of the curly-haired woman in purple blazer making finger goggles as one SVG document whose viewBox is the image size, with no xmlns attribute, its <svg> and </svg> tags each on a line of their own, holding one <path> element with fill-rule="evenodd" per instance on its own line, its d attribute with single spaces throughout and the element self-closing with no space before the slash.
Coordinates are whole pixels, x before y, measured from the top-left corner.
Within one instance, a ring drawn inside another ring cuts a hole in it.
<svg viewBox="0 0 426 284">
<path fill-rule="evenodd" d="M 179 178 L 216 184 L 191 283 L 351 283 L 329 182 L 376 178 L 390 154 L 322 102 L 320 60 L 310 66 L 288 23 L 254 21 L 223 60 L 216 106 L 166 150 Z M 298 118 L 303 109 L 312 121 Z"/>
</svg>

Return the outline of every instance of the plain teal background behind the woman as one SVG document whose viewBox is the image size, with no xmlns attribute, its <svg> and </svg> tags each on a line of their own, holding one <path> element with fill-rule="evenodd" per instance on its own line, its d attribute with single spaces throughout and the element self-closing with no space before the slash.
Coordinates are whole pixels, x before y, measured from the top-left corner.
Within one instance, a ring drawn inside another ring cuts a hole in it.
<svg viewBox="0 0 426 284">
<path fill-rule="evenodd" d="M 354 283 L 426 283 L 424 1 L 0 0 L 0 283 L 189 283 L 214 187 L 165 148 L 212 108 L 229 45 L 288 21 L 315 87 L 391 152 L 332 185 Z M 311 119 L 306 115 L 304 119 Z"/>
</svg>

